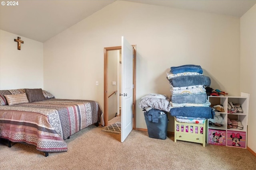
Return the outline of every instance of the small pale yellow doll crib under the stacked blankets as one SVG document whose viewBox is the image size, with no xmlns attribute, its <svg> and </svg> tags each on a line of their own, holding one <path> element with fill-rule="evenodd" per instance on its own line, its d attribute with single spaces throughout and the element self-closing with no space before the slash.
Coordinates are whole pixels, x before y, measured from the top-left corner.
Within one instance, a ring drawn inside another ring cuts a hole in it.
<svg viewBox="0 0 256 170">
<path fill-rule="evenodd" d="M 174 142 L 177 140 L 188 141 L 194 143 L 202 143 L 205 147 L 205 136 L 206 136 L 206 122 L 203 124 L 196 123 L 183 123 L 174 120 Z"/>
</svg>

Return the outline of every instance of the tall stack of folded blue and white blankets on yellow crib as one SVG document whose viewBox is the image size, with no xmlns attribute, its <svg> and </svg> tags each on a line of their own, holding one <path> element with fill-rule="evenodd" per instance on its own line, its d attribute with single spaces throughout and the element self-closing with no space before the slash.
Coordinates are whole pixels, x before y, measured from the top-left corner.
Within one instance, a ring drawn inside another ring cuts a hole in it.
<svg viewBox="0 0 256 170">
<path fill-rule="evenodd" d="M 210 86 L 211 80 L 202 73 L 201 66 L 193 64 L 172 66 L 170 72 L 167 72 L 172 92 L 172 116 L 195 120 L 214 118 L 215 113 L 210 107 L 205 90 L 206 86 Z"/>
</svg>

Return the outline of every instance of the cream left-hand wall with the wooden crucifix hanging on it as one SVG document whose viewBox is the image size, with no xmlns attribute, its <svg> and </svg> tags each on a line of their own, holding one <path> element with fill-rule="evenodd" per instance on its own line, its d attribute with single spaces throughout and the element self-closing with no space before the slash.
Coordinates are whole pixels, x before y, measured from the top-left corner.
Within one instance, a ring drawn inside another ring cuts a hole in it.
<svg viewBox="0 0 256 170">
<path fill-rule="evenodd" d="M 43 43 L 0 30 L 0 90 L 43 88 Z"/>
</svg>

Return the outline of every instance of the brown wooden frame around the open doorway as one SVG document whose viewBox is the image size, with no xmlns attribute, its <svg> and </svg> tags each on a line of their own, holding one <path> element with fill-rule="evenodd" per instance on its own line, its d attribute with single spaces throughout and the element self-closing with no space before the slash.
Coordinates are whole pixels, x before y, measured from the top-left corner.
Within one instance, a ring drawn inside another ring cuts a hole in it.
<svg viewBox="0 0 256 170">
<path fill-rule="evenodd" d="M 134 58 L 133 58 L 133 129 L 136 129 L 136 45 L 132 45 Z M 108 125 L 108 51 L 121 50 L 122 46 L 105 47 L 104 48 L 104 123 Z M 118 94 L 119 95 L 119 94 Z M 122 114 L 122 113 L 121 113 Z M 122 115 L 121 115 L 122 116 Z"/>
</svg>

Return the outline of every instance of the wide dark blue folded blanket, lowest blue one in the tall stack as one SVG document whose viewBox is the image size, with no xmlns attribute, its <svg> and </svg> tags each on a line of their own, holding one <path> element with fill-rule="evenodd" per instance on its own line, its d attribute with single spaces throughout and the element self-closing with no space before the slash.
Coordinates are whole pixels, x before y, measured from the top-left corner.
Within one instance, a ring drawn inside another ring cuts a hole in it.
<svg viewBox="0 0 256 170">
<path fill-rule="evenodd" d="M 215 112 L 211 107 L 174 107 L 170 109 L 172 116 L 201 117 L 214 119 Z"/>
</svg>

